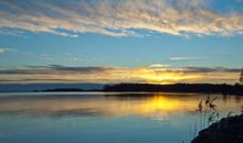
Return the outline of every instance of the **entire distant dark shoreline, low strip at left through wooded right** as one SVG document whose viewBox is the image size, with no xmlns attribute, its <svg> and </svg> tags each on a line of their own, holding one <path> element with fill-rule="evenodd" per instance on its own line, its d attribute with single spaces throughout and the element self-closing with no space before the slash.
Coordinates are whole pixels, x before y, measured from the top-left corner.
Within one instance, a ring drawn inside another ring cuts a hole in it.
<svg viewBox="0 0 243 143">
<path fill-rule="evenodd" d="M 243 96 L 243 85 L 213 85 L 213 84 L 173 84 L 173 85 L 151 85 L 151 84 L 117 84 L 106 85 L 103 89 L 82 88 L 52 88 L 44 90 L 32 90 L 33 92 L 183 92 L 183 94 L 222 94 Z M 0 91 L 2 92 L 2 91 Z M 6 91 L 11 92 L 11 91 Z M 15 91 L 19 92 L 19 91 Z M 31 91 L 23 91 L 31 92 Z"/>
</svg>

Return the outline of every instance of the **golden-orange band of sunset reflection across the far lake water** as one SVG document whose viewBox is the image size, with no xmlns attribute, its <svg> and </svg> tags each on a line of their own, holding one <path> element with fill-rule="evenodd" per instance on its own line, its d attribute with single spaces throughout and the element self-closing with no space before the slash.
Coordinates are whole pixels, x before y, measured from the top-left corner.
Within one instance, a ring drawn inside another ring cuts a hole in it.
<svg viewBox="0 0 243 143">
<path fill-rule="evenodd" d="M 0 98 L 0 116 L 102 116 L 125 117 L 140 116 L 148 118 L 166 118 L 169 113 L 193 112 L 199 101 L 205 96 L 150 94 L 140 96 L 44 96 Z M 216 101 L 220 110 L 239 109 L 242 105 L 225 100 Z"/>
</svg>

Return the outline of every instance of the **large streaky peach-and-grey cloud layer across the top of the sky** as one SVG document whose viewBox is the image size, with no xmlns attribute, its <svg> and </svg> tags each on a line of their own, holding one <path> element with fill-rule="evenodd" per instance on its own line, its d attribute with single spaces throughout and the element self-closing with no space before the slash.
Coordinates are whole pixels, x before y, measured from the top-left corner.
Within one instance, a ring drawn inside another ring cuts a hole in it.
<svg viewBox="0 0 243 143">
<path fill-rule="evenodd" d="M 76 37 L 81 33 L 144 36 L 243 33 L 243 15 L 218 12 L 208 0 L 3 0 L 0 28 Z"/>
</svg>

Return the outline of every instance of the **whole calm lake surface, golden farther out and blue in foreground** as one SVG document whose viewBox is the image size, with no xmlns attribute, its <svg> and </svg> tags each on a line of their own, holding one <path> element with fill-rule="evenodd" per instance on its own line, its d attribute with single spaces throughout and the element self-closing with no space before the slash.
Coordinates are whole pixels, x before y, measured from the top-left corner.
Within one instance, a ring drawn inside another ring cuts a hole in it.
<svg viewBox="0 0 243 143">
<path fill-rule="evenodd" d="M 196 111 L 208 95 L 1 94 L 1 143 L 181 143 L 208 123 Z M 218 97 L 220 117 L 243 98 Z M 216 119 L 215 119 L 216 120 Z"/>
</svg>

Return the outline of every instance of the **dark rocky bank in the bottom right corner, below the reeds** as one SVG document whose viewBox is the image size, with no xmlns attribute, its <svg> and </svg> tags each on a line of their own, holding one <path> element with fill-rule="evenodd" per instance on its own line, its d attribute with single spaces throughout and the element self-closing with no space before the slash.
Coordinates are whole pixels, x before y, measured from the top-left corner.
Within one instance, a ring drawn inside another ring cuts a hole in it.
<svg viewBox="0 0 243 143">
<path fill-rule="evenodd" d="M 191 143 L 243 143 L 243 113 L 211 124 L 200 131 Z"/>
</svg>

